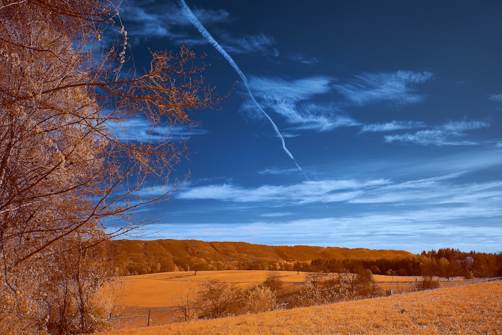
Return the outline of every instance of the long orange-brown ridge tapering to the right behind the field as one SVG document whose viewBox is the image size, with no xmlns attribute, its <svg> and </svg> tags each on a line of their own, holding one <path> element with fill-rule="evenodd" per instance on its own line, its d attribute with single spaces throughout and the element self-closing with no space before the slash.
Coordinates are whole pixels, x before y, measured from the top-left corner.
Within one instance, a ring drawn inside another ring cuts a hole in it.
<svg viewBox="0 0 502 335">
<path fill-rule="evenodd" d="M 412 256 L 406 251 L 313 246 L 267 246 L 196 240 L 118 240 L 115 263 L 121 275 L 183 270 L 294 270 L 314 259 L 372 259 Z"/>
</svg>

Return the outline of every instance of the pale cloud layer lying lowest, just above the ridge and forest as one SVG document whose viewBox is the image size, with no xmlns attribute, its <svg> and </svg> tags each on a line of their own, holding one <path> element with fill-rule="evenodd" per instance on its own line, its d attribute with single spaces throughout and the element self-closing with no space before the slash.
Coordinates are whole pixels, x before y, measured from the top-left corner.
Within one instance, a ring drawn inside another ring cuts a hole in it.
<svg viewBox="0 0 502 335">
<path fill-rule="evenodd" d="M 162 226 L 169 232 L 165 238 L 176 239 L 346 248 L 370 246 L 372 249 L 407 250 L 417 254 L 422 250 L 444 247 L 494 252 L 500 250 L 502 228 L 498 222 L 491 222 L 490 217 L 496 220 L 502 211 L 500 208 L 493 211 L 485 209 L 450 206 L 403 209 L 393 213 L 365 211 L 295 219 L 272 217 L 231 224 L 220 224 L 215 220 L 207 224 Z M 472 216 L 477 214 L 481 217 Z M 476 219 L 476 225 L 470 223 L 473 219 Z"/>
</svg>

